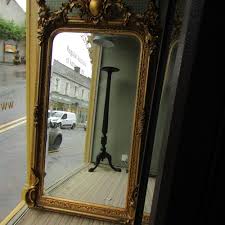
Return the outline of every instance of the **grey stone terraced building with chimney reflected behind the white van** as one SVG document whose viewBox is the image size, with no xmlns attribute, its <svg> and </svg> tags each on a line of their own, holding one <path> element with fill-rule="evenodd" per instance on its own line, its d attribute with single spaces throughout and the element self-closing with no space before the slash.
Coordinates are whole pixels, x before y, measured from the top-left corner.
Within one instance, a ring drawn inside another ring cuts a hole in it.
<svg viewBox="0 0 225 225">
<path fill-rule="evenodd" d="M 80 73 L 79 67 L 74 70 L 54 60 L 51 70 L 49 108 L 75 112 L 77 122 L 87 120 L 90 94 L 90 81 Z"/>
</svg>

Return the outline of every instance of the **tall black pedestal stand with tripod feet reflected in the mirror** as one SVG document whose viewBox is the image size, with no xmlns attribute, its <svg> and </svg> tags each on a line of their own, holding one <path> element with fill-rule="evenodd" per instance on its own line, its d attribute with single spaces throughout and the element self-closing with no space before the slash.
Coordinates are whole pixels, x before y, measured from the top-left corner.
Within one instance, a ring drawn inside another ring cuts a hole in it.
<svg viewBox="0 0 225 225">
<path fill-rule="evenodd" d="M 100 164 L 100 161 L 103 161 L 105 158 L 107 158 L 110 167 L 117 172 L 121 172 L 120 168 L 116 168 L 116 167 L 113 166 L 112 156 L 106 151 L 111 77 L 112 77 L 112 73 L 118 72 L 119 69 L 115 68 L 115 67 L 107 66 L 107 67 L 103 67 L 101 70 L 108 73 L 107 86 L 106 86 L 106 96 L 105 96 L 104 117 L 103 117 L 103 124 L 102 124 L 102 138 L 101 138 L 102 147 L 101 147 L 101 152 L 96 157 L 95 166 L 93 168 L 90 168 L 88 171 L 93 172 L 98 167 L 98 165 Z"/>
</svg>

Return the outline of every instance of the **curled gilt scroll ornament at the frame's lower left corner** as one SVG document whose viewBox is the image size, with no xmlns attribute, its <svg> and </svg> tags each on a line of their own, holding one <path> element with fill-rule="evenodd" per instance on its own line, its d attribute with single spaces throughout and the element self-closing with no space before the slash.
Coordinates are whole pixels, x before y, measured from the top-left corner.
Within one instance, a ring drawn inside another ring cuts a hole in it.
<svg viewBox="0 0 225 225">
<path fill-rule="evenodd" d="M 32 180 L 33 184 L 27 189 L 25 194 L 25 201 L 29 207 L 34 207 L 37 199 L 37 190 L 40 182 L 40 176 L 36 173 L 36 171 L 31 168 L 32 171 Z"/>
</svg>

